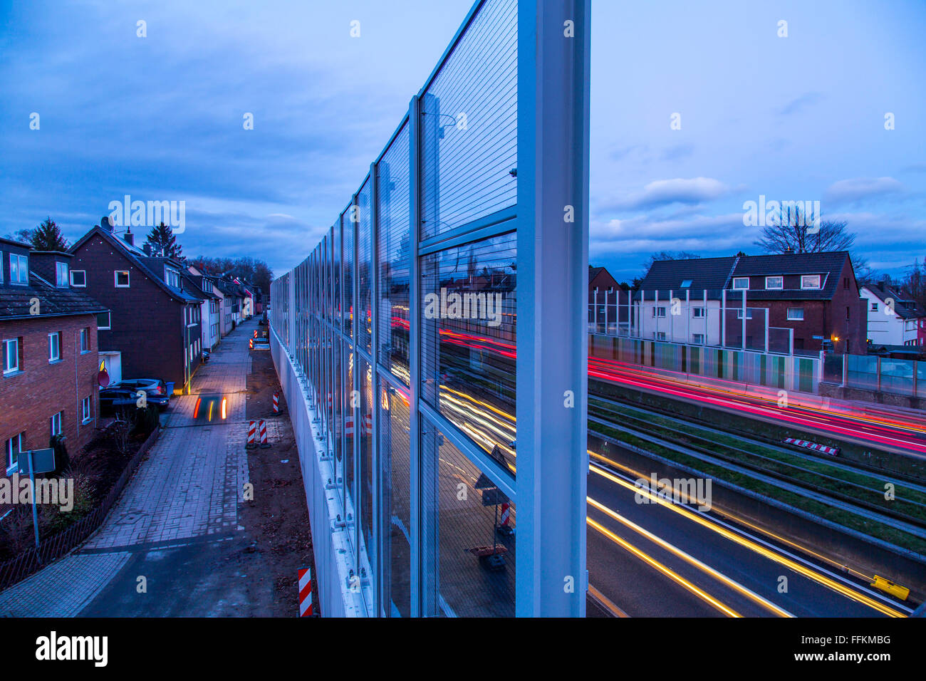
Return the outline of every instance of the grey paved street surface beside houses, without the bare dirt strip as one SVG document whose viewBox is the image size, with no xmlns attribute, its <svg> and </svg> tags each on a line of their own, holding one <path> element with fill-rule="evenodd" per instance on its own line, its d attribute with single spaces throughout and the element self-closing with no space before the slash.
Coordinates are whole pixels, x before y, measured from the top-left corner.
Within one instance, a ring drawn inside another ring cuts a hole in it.
<svg viewBox="0 0 926 681">
<path fill-rule="evenodd" d="M 249 610 L 239 503 L 248 480 L 245 384 L 251 320 L 222 339 L 171 399 L 164 430 L 106 518 L 68 557 L 0 592 L 0 616 L 233 615 Z M 227 419 L 194 421 L 197 394 L 228 399 Z M 272 434 L 270 434 L 272 436 Z M 223 569 L 224 568 L 224 569 Z"/>
</svg>

